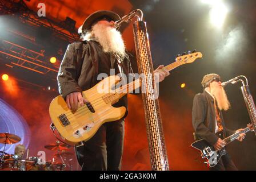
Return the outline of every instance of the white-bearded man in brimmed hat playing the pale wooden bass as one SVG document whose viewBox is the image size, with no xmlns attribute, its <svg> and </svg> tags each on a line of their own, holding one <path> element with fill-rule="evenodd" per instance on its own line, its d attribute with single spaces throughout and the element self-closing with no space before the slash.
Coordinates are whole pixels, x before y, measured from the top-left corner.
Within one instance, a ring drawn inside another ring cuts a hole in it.
<svg viewBox="0 0 256 182">
<path fill-rule="evenodd" d="M 86 102 L 82 91 L 90 89 L 100 80 L 99 73 L 110 76 L 130 73 L 131 64 L 121 33 L 114 22 L 120 20 L 113 11 L 99 10 L 89 15 L 79 32 L 83 41 L 69 44 L 58 73 L 59 93 L 65 98 L 69 109 L 76 110 Z M 159 66 L 154 73 L 162 81 L 169 72 Z M 125 106 L 127 95 L 113 106 Z M 97 133 L 83 146 L 75 147 L 82 170 L 120 170 L 123 153 L 124 119 L 104 123 Z"/>
</svg>

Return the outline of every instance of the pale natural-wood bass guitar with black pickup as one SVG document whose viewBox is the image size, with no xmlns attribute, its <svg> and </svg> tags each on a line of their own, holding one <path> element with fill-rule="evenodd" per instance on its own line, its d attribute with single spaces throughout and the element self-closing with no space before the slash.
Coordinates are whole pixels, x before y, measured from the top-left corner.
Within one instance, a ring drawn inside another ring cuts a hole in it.
<svg viewBox="0 0 256 182">
<path fill-rule="evenodd" d="M 180 65 L 193 63 L 195 59 L 201 57 L 202 53 L 195 51 L 188 55 L 178 56 L 174 63 L 163 69 L 171 71 Z M 119 76 L 109 76 L 98 82 L 93 88 L 83 91 L 83 98 L 88 102 L 77 110 L 70 110 L 62 96 L 51 101 L 49 107 L 51 121 L 66 143 L 76 145 L 79 142 L 89 140 L 103 123 L 117 121 L 125 115 L 125 107 L 117 108 L 112 105 L 126 95 L 127 92 L 123 91 L 139 88 L 141 79 L 138 78 L 113 90 L 120 80 Z"/>
</svg>

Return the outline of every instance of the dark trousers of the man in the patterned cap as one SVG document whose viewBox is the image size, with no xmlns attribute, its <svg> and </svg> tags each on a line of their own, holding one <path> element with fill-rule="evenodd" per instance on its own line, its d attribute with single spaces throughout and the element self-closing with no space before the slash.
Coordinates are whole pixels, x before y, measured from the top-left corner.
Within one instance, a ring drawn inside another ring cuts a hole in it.
<svg viewBox="0 0 256 182">
<path fill-rule="evenodd" d="M 229 154 L 223 155 L 218 164 L 210 168 L 210 171 L 238 171 Z"/>
</svg>

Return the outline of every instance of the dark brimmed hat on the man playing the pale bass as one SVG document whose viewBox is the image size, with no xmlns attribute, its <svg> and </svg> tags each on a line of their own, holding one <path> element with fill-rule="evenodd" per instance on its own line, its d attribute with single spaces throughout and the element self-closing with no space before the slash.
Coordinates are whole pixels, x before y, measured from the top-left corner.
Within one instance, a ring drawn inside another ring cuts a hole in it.
<svg viewBox="0 0 256 182">
<path fill-rule="evenodd" d="M 94 23 L 96 23 L 97 21 L 103 18 L 113 20 L 114 22 L 121 19 L 120 16 L 114 13 L 113 11 L 108 11 L 108 10 L 95 11 L 85 19 L 85 22 L 83 22 L 82 32 L 91 30 L 91 26 L 93 26 Z"/>
</svg>

